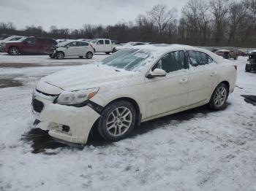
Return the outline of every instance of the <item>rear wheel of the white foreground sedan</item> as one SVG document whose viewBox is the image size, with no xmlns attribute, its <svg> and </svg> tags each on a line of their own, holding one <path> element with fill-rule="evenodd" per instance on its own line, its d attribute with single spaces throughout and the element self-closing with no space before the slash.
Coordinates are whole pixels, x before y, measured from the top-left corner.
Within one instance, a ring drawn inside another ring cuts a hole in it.
<svg viewBox="0 0 256 191">
<path fill-rule="evenodd" d="M 211 95 L 211 100 L 208 104 L 211 109 L 221 110 L 224 109 L 229 90 L 225 83 L 220 83 L 214 90 L 214 93 Z"/>
</svg>

